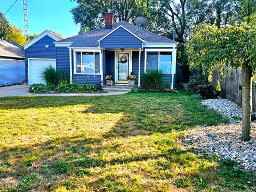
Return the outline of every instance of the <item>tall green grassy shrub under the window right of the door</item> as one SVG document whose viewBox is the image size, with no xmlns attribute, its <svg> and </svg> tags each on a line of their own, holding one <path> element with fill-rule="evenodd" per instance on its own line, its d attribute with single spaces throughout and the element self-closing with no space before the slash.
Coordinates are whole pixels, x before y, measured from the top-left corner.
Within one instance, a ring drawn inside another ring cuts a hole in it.
<svg viewBox="0 0 256 192">
<path fill-rule="evenodd" d="M 146 91 L 165 91 L 164 74 L 159 70 L 150 70 L 148 73 L 143 74 L 142 88 Z"/>
</svg>

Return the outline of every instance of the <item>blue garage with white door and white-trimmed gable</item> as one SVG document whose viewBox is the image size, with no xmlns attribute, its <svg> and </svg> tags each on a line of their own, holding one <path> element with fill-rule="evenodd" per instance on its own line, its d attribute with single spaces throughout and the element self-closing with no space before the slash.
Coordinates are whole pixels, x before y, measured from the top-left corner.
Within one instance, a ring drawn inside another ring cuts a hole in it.
<svg viewBox="0 0 256 192">
<path fill-rule="evenodd" d="M 42 78 L 44 68 L 56 68 L 56 47 L 53 42 L 65 38 L 67 37 L 45 30 L 24 46 L 27 84 L 46 83 Z"/>
</svg>

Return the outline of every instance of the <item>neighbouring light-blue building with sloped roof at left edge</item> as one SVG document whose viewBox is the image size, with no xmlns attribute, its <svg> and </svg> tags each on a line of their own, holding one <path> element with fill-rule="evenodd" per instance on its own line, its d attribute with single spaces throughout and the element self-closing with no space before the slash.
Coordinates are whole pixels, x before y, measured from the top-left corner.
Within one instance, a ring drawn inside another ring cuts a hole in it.
<svg viewBox="0 0 256 192">
<path fill-rule="evenodd" d="M 25 52 L 22 46 L 0 39 L 0 86 L 25 82 Z"/>
</svg>

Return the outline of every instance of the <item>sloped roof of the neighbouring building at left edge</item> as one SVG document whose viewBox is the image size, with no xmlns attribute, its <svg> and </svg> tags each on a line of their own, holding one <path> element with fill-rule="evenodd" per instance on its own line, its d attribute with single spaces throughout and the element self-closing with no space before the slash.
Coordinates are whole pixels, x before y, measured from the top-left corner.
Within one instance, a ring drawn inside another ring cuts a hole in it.
<svg viewBox="0 0 256 192">
<path fill-rule="evenodd" d="M 13 58 L 24 58 L 25 50 L 23 46 L 14 43 L 13 41 L 0 39 L 0 57 L 13 57 Z"/>
</svg>

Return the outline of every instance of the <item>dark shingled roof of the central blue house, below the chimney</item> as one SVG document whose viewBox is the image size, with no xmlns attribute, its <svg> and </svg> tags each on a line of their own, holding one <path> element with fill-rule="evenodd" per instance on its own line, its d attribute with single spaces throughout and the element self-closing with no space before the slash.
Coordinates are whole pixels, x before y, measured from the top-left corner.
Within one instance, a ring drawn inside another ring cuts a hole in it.
<svg viewBox="0 0 256 192">
<path fill-rule="evenodd" d="M 112 30 L 116 29 L 118 26 L 121 25 L 126 29 L 130 30 L 134 34 L 135 31 L 139 28 L 138 26 L 132 25 L 129 22 L 119 21 L 117 23 L 114 23 L 113 29 L 105 29 L 105 27 L 102 27 L 99 29 L 91 30 L 81 35 L 76 35 L 73 37 L 63 39 L 59 42 L 73 42 L 73 44 L 70 45 L 71 47 L 98 47 L 98 40 L 100 40 L 102 37 L 104 37 Z M 138 37 L 140 37 L 148 43 L 175 43 L 175 41 L 169 38 L 157 35 L 142 28 L 139 31 L 137 31 L 135 35 L 137 35 Z"/>
</svg>

